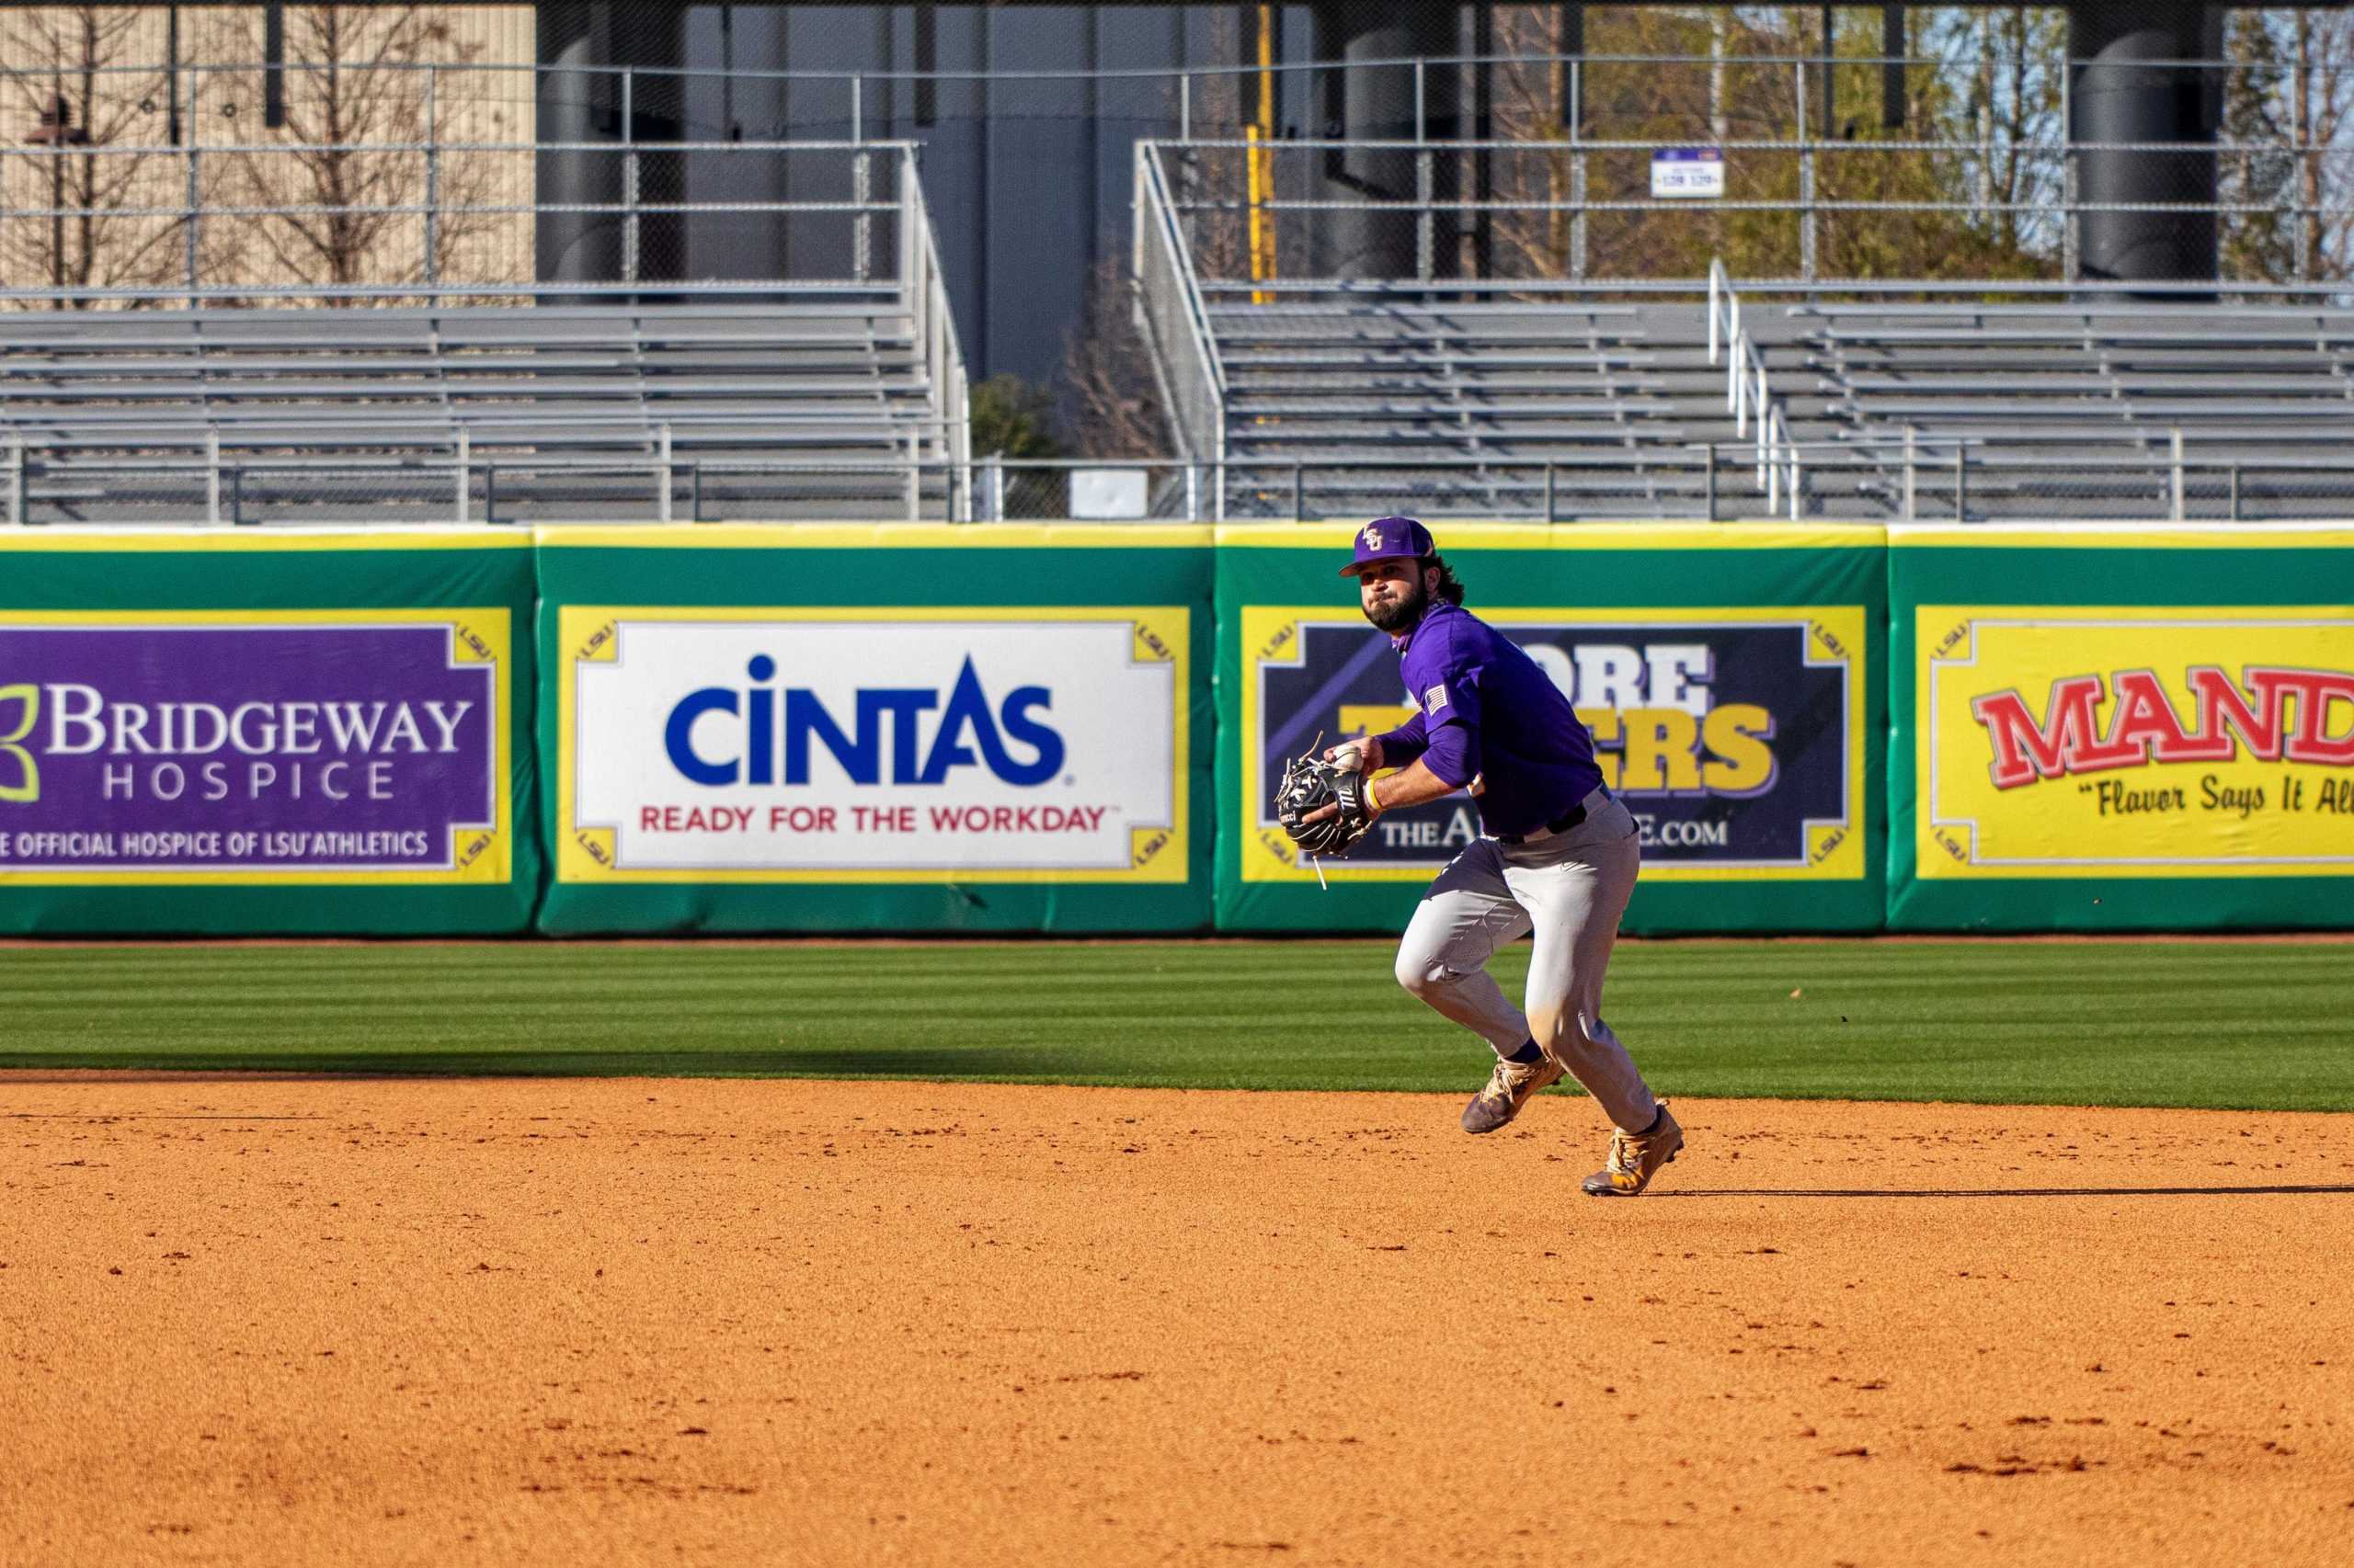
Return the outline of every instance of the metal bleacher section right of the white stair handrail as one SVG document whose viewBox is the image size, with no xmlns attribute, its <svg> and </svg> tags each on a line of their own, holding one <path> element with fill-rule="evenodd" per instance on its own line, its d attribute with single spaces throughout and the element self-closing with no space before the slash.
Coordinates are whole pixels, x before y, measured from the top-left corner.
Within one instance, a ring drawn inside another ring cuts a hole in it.
<svg viewBox="0 0 2354 1568">
<path fill-rule="evenodd" d="M 1855 452 L 1815 469 L 1824 501 L 1902 513 L 1909 445 L 1911 511 L 1933 473 L 1940 516 L 2354 513 L 2354 311 L 1806 301 L 1749 325 L 1791 438 Z"/>
</svg>

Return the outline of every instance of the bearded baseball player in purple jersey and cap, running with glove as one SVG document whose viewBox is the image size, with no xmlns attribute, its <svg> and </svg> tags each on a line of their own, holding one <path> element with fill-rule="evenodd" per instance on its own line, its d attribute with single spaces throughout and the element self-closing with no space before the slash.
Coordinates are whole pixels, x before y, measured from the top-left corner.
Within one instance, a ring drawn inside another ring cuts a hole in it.
<svg viewBox="0 0 2354 1568">
<path fill-rule="evenodd" d="M 1631 1198 L 1683 1149 L 1683 1128 L 1603 1022 L 1603 970 L 1634 892 L 1634 817 L 1594 765 L 1594 737 L 1570 702 L 1509 638 L 1462 607 L 1462 584 L 1415 518 L 1375 518 L 1356 534 L 1365 619 L 1403 655 L 1415 716 L 1323 753 L 1342 770 L 1337 798 L 1306 822 L 1344 822 L 1354 843 L 1384 810 L 1471 789 L 1483 838 L 1455 857 L 1405 928 L 1398 984 L 1495 1048 L 1495 1076 L 1464 1132 L 1492 1132 L 1568 1071 L 1615 1125 L 1610 1158 L 1584 1180 L 1598 1198 Z M 1375 779 L 1382 768 L 1401 772 Z M 1525 1012 L 1488 956 L 1535 937 Z"/>
</svg>

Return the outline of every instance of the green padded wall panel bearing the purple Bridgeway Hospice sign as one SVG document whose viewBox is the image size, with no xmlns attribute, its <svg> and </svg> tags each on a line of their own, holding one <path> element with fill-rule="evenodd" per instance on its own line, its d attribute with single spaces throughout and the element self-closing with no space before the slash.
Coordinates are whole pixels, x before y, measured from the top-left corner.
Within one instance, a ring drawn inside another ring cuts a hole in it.
<svg viewBox="0 0 2354 1568">
<path fill-rule="evenodd" d="M 45 530 L 0 565 L 0 928 L 527 925 L 527 539 Z"/>
</svg>

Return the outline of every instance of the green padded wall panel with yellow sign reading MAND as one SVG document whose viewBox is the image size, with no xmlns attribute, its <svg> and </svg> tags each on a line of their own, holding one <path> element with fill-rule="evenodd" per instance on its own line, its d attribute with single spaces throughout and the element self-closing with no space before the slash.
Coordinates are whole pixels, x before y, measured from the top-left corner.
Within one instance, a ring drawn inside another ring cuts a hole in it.
<svg viewBox="0 0 2354 1568">
<path fill-rule="evenodd" d="M 1890 923 L 2342 925 L 2354 532 L 1900 527 Z"/>
</svg>

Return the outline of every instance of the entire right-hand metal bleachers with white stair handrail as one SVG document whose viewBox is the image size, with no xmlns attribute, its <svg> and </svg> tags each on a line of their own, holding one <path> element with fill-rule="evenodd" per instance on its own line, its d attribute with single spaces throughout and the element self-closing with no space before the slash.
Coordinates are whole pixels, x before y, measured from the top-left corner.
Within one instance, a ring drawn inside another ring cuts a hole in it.
<svg viewBox="0 0 2354 1568">
<path fill-rule="evenodd" d="M 1189 146 L 1139 320 L 1222 516 L 2354 516 L 2335 285 L 1201 275 Z"/>
</svg>

